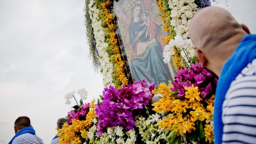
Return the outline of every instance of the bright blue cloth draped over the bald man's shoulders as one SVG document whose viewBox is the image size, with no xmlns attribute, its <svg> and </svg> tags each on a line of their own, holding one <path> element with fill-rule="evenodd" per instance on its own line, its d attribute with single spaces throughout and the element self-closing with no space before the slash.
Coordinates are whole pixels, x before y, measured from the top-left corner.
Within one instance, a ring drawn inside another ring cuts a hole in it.
<svg viewBox="0 0 256 144">
<path fill-rule="evenodd" d="M 216 88 L 214 102 L 214 144 L 222 143 L 222 105 L 231 82 L 256 58 L 256 35 L 246 35 L 231 57 L 223 65 Z"/>
</svg>

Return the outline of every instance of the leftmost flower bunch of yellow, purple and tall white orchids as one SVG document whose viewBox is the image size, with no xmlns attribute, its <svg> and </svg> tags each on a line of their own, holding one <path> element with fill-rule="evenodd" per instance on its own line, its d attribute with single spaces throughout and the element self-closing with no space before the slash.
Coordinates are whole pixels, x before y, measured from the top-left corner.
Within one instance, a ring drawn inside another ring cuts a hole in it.
<svg viewBox="0 0 256 144">
<path fill-rule="evenodd" d="M 87 91 L 82 88 L 77 92 L 81 96 L 80 104 L 78 104 L 75 99 L 77 105 L 72 107 L 74 110 L 68 112 L 68 116 L 66 117 L 67 119 L 62 122 L 64 123 L 62 128 L 57 129 L 59 132 L 57 135 L 60 138 L 60 144 L 79 144 L 85 142 L 89 128 L 91 128 L 93 123 L 97 121 L 94 101 L 84 104 L 82 99 L 87 98 Z M 69 101 L 70 97 L 75 98 L 74 94 L 75 91 L 69 92 L 65 95 L 65 99 Z"/>
</svg>

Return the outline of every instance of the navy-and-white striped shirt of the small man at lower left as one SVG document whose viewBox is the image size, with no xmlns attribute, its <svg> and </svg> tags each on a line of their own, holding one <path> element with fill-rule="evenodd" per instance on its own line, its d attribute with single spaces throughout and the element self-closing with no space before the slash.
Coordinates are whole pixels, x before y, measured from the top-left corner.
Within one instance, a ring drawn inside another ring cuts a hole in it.
<svg viewBox="0 0 256 144">
<path fill-rule="evenodd" d="M 12 144 L 44 144 L 43 140 L 37 136 L 30 133 L 24 133 L 16 137 Z"/>
</svg>

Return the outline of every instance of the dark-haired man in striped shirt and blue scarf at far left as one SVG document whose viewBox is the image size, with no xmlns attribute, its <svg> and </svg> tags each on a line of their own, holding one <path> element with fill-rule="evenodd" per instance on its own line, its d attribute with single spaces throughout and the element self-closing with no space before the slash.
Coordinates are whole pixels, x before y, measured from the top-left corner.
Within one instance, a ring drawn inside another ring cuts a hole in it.
<svg viewBox="0 0 256 144">
<path fill-rule="evenodd" d="M 15 136 L 8 144 L 44 144 L 42 139 L 35 135 L 29 117 L 21 116 L 14 122 Z"/>
</svg>

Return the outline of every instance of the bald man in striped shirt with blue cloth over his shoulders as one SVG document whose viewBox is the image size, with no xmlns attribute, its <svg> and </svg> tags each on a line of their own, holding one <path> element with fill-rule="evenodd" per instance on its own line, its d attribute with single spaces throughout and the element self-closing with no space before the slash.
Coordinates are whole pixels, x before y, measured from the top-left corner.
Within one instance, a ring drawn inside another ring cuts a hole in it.
<svg viewBox="0 0 256 144">
<path fill-rule="evenodd" d="M 191 19 L 196 56 L 219 77 L 214 103 L 214 143 L 256 143 L 256 35 L 219 7 Z"/>
</svg>

